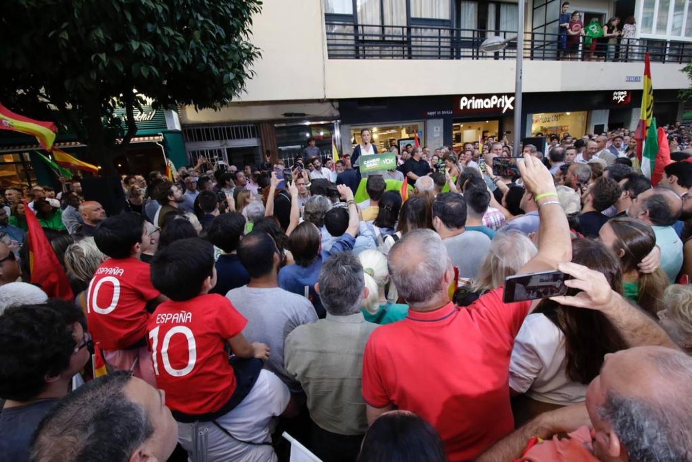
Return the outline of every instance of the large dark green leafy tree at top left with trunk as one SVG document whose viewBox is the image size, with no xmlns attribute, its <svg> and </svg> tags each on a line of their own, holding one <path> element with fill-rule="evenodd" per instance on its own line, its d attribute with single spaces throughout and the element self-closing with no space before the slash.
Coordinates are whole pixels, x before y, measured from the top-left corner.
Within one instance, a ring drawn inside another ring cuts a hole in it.
<svg viewBox="0 0 692 462">
<path fill-rule="evenodd" d="M 113 173 L 136 132 L 143 96 L 155 108 L 217 108 L 244 89 L 261 0 L 5 0 L 0 101 L 58 123 Z M 125 107 L 127 130 L 113 109 Z M 57 110 L 56 110 L 57 109 Z M 122 143 L 116 144 L 116 139 Z"/>
</svg>

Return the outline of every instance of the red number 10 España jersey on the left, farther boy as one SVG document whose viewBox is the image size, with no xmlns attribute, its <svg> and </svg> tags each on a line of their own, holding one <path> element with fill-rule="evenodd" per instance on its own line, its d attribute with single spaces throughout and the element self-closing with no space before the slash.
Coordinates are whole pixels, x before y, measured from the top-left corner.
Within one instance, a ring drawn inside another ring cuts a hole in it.
<svg viewBox="0 0 692 462">
<path fill-rule="evenodd" d="M 86 320 L 104 350 L 122 350 L 147 335 L 145 306 L 159 295 L 149 279 L 149 265 L 136 258 L 109 258 L 86 291 Z"/>
</svg>

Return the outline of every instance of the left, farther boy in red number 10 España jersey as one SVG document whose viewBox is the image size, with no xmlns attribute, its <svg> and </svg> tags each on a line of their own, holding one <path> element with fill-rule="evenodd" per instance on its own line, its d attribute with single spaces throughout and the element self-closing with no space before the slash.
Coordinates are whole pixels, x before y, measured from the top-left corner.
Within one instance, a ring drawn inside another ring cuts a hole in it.
<svg viewBox="0 0 692 462">
<path fill-rule="evenodd" d="M 100 251 L 109 256 L 91 279 L 86 292 L 86 319 L 104 361 L 131 370 L 156 386 L 152 357 L 147 350 L 147 303 L 165 297 L 154 289 L 149 265 L 139 260 L 145 236 L 144 220 L 123 213 L 103 220 L 94 233 Z"/>
</svg>

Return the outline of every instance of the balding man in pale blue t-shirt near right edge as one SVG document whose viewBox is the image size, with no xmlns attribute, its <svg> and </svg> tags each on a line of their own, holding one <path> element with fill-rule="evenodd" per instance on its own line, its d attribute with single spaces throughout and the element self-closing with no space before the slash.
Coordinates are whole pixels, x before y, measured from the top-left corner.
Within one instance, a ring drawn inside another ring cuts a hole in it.
<svg viewBox="0 0 692 462">
<path fill-rule="evenodd" d="M 656 234 L 661 249 L 661 267 L 671 282 L 675 282 L 682 267 L 682 240 L 673 224 L 682 213 L 682 199 L 668 188 L 651 188 L 632 200 L 627 215 L 645 222 Z"/>
</svg>

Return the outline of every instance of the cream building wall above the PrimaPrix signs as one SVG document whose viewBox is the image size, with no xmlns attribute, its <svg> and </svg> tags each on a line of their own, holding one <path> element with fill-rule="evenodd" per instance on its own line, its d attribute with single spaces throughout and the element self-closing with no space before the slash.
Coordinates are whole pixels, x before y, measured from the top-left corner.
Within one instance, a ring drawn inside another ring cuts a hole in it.
<svg viewBox="0 0 692 462">
<path fill-rule="evenodd" d="M 580 7 L 590 10 L 612 5 L 578 1 Z M 528 8 L 527 14 L 530 11 Z M 290 109 L 302 105 L 301 100 L 514 91 L 513 60 L 327 60 L 320 0 L 265 0 L 262 13 L 253 19 L 251 40 L 261 48 L 262 57 L 253 66 L 256 75 L 246 82 L 240 102 L 281 102 Z M 677 64 L 651 64 L 654 89 L 687 87 L 689 81 L 680 69 Z M 636 90 L 641 89 L 641 82 L 626 82 L 626 76 L 643 71 L 642 63 L 525 60 L 523 91 Z M 285 112 L 325 111 L 311 107 Z M 226 111 L 192 113 L 193 109 L 183 108 L 181 122 L 228 121 L 233 115 Z M 248 115 L 244 114 L 244 120 Z"/>
</svg>

